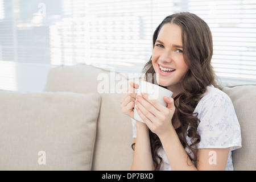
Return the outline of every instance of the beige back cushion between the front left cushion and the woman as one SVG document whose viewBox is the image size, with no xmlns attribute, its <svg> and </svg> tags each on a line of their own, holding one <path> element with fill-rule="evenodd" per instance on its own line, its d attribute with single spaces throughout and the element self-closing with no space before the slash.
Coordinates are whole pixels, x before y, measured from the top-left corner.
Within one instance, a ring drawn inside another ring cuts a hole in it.
<svg viewBox="0 0 256 182">
<path fill-rule="evenodd" d="M 104 80 L 106 87 L 102 84 Z M 122 75 L 90 65 L 56 67 L 49 71 L 44 91 L 101 94 L 92 170 L 129 170 L 131 167 L 131 119 L 120 109 L 123 92 L 127 91 L 121 85 L 125 84 L 128 82 Z"/>
</svg>

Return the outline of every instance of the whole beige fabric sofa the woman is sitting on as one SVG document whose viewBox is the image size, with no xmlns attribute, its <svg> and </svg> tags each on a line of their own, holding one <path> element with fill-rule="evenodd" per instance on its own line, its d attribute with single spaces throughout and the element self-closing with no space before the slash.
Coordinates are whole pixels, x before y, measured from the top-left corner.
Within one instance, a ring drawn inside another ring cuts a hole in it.
<svg viewBox="0 0 256 182">
<path fill-rule="evenodd" d="M 125 76 L 89 65 L 52 68 L 42 92 L 0 92 L 0 170 L 129 170 Z M 109 85 L 109 86 L 106 86 Z M 241 125 L 235 170 L 255 170 L 256 85 L 223 88 Z"/>
</svg>

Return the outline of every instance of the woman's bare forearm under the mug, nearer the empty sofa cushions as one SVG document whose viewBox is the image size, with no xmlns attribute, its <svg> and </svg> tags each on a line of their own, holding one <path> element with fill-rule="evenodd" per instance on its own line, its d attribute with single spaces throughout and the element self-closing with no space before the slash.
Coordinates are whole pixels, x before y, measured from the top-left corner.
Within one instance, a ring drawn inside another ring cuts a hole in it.
<svg viewBox="0 0 256 182">
<path fill-rule="evenodd" d="M 137 138 L 134 138 L 135 150 L 131 170 L 154 170 L 148 127 L 137 121 Z"/>
</svg>

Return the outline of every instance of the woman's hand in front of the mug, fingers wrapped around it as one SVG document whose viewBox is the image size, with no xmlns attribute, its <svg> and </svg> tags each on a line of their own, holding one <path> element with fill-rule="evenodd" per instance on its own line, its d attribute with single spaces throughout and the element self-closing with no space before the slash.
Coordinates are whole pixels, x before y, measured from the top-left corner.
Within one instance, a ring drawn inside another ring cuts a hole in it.
<svg viewBox="0 0 256 182">
<path fill-rule="evenodd" d="M 141 95 L 137 95 L 137 100 L 135 101 L 136 109 L 148 128 L 158 137 L 166 133 L 166 131 L 174 129 L 172 126 L 172 117 L 175 112 L 174 99 L 164 97 L 164 101 L 167 103 L 166 107 L 147 93 L 141 93 Z"/>
</svg>

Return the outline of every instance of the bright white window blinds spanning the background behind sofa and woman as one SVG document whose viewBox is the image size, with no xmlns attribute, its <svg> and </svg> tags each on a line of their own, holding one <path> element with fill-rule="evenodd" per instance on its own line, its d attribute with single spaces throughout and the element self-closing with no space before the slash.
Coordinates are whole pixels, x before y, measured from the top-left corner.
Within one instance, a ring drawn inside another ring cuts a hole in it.
<svg viewBox="0 0 256 182">
<path fill-rule="evenodd" d="M 139 73 L 155 28 L 181 11 L 208 23 L 218 76 L 256 82 L 254 0 L 0 0 L 0 61 Z"/>
</svg>

